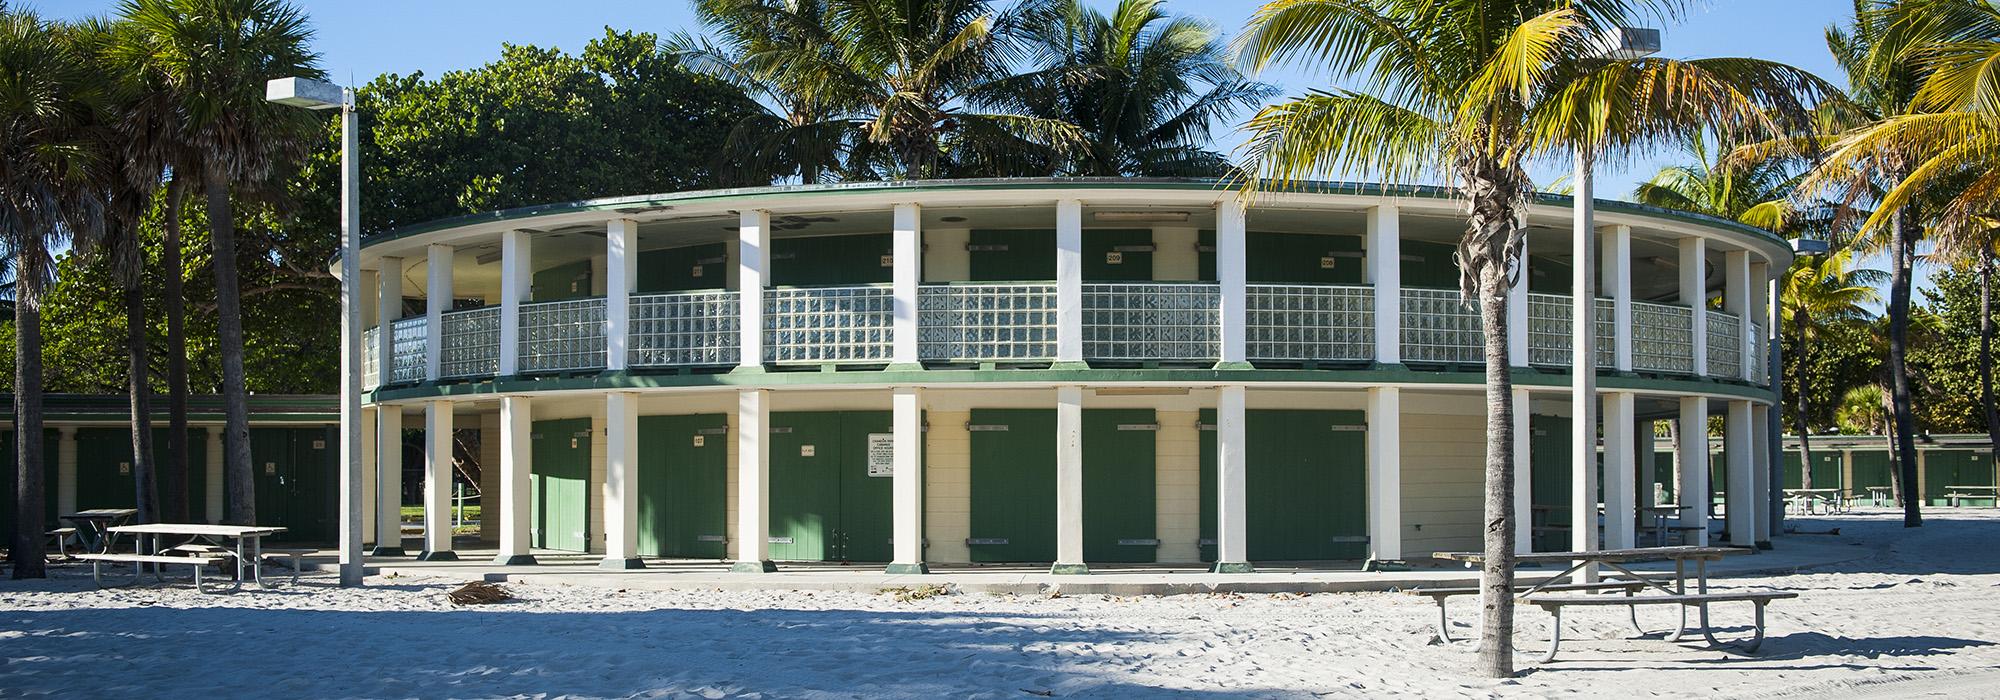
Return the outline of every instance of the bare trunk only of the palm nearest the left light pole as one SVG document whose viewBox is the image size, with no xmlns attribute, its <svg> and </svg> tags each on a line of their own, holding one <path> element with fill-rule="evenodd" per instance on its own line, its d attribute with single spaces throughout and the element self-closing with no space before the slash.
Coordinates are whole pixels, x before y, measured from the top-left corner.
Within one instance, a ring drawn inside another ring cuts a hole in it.
<svg viewBox="0 0 2000 700">
<path fill-rule="evenodd" d="M 236 222 L 230 184 L 206 174 L 208 244 L 216 264 L 216 332 L 222 344 L 222 480 L 230 524 L 256 524 L 256 474 L 250 472 L 250 394 L 244 388 L 244 316 L 236 288 Z"/>
</svg>

